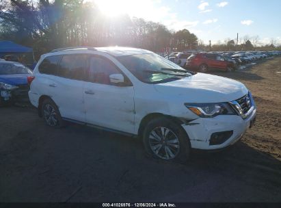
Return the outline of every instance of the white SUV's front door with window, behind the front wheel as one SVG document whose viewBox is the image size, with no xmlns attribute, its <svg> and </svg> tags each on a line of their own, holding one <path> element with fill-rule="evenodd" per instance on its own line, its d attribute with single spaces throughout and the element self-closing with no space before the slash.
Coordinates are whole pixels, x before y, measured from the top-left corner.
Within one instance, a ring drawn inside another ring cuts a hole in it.
<svg viewBox="0 0 281 208">
<path fill-rule="evenodd" d="M 126 86 L 110 82 L 109 75 L 122 74 Z M 92 125 L 134 133 L 135 106 L 131 81 L 107 57 L 90 57 L 88 82 L 85 85 L 86 121 Z"/>
</svg>

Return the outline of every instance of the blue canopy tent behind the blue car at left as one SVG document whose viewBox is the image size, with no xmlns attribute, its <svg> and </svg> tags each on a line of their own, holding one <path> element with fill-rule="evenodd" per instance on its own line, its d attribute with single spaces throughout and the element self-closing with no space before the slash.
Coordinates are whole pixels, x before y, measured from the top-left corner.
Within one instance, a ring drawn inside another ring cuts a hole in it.
<svg viewBox="0 0 281 208">
<path fill-rule="evenodd" d="M 3 40 L 0 41 L 0 57 L 5 57 L 5 55 L 25 57 L 23 64 L 26 64 L 29 68 L 33 69 L 34 53 L 32 48 L 24 47 L 21 44 L 16 44 L 12 41 Z"/>
</svg>

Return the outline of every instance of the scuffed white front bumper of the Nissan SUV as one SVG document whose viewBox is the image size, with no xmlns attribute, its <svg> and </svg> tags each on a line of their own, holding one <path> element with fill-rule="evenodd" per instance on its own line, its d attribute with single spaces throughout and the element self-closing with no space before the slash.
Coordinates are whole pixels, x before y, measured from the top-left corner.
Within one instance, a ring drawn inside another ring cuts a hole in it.
<svg viewBox="0 0 281 208">
<path fill-rule="evenodd" d="M 236 115 L 221 115 L 215 116 L 214 118 L 198 118 L 182 126 L 187 132 L 187 135 L 189 135 L 191 148 L 215 150 L 225 148 L 240 140 L 245 131 L 250 127 L 251 120 L 254 120 L 255 117 L 256 107 L 245 119 Z M 222 131 L 233 131 L 233 133 L 222 144 L 211 145 L 211 135 Z"/>
</svg>

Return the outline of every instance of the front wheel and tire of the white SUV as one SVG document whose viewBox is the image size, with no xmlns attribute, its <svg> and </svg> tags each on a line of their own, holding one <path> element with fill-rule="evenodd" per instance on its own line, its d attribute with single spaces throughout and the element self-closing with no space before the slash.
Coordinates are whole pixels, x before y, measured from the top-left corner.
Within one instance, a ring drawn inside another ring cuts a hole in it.
<svg viewBox="0 0 281 208">
<path fill-rule="evenodd" d="M 149 157 L 180 164 L 189 159 L 191 146 L 187 133 L 168 118 L 150 120 L 144 129 L 143 142 Z"/>
</svg>

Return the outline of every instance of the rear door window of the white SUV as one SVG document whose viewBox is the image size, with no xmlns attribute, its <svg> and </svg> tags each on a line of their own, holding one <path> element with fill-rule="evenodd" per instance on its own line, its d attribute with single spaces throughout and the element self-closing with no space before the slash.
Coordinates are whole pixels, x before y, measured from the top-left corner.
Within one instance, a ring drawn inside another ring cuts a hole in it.
<svg viewBox="0 0 281 208">
<path fill-rule="evenodd" d="M 87 54 L 64 55 L 59 63 L 57 75 L 69 79 L 83 80 L 87 66 Z"/>
</svg>

